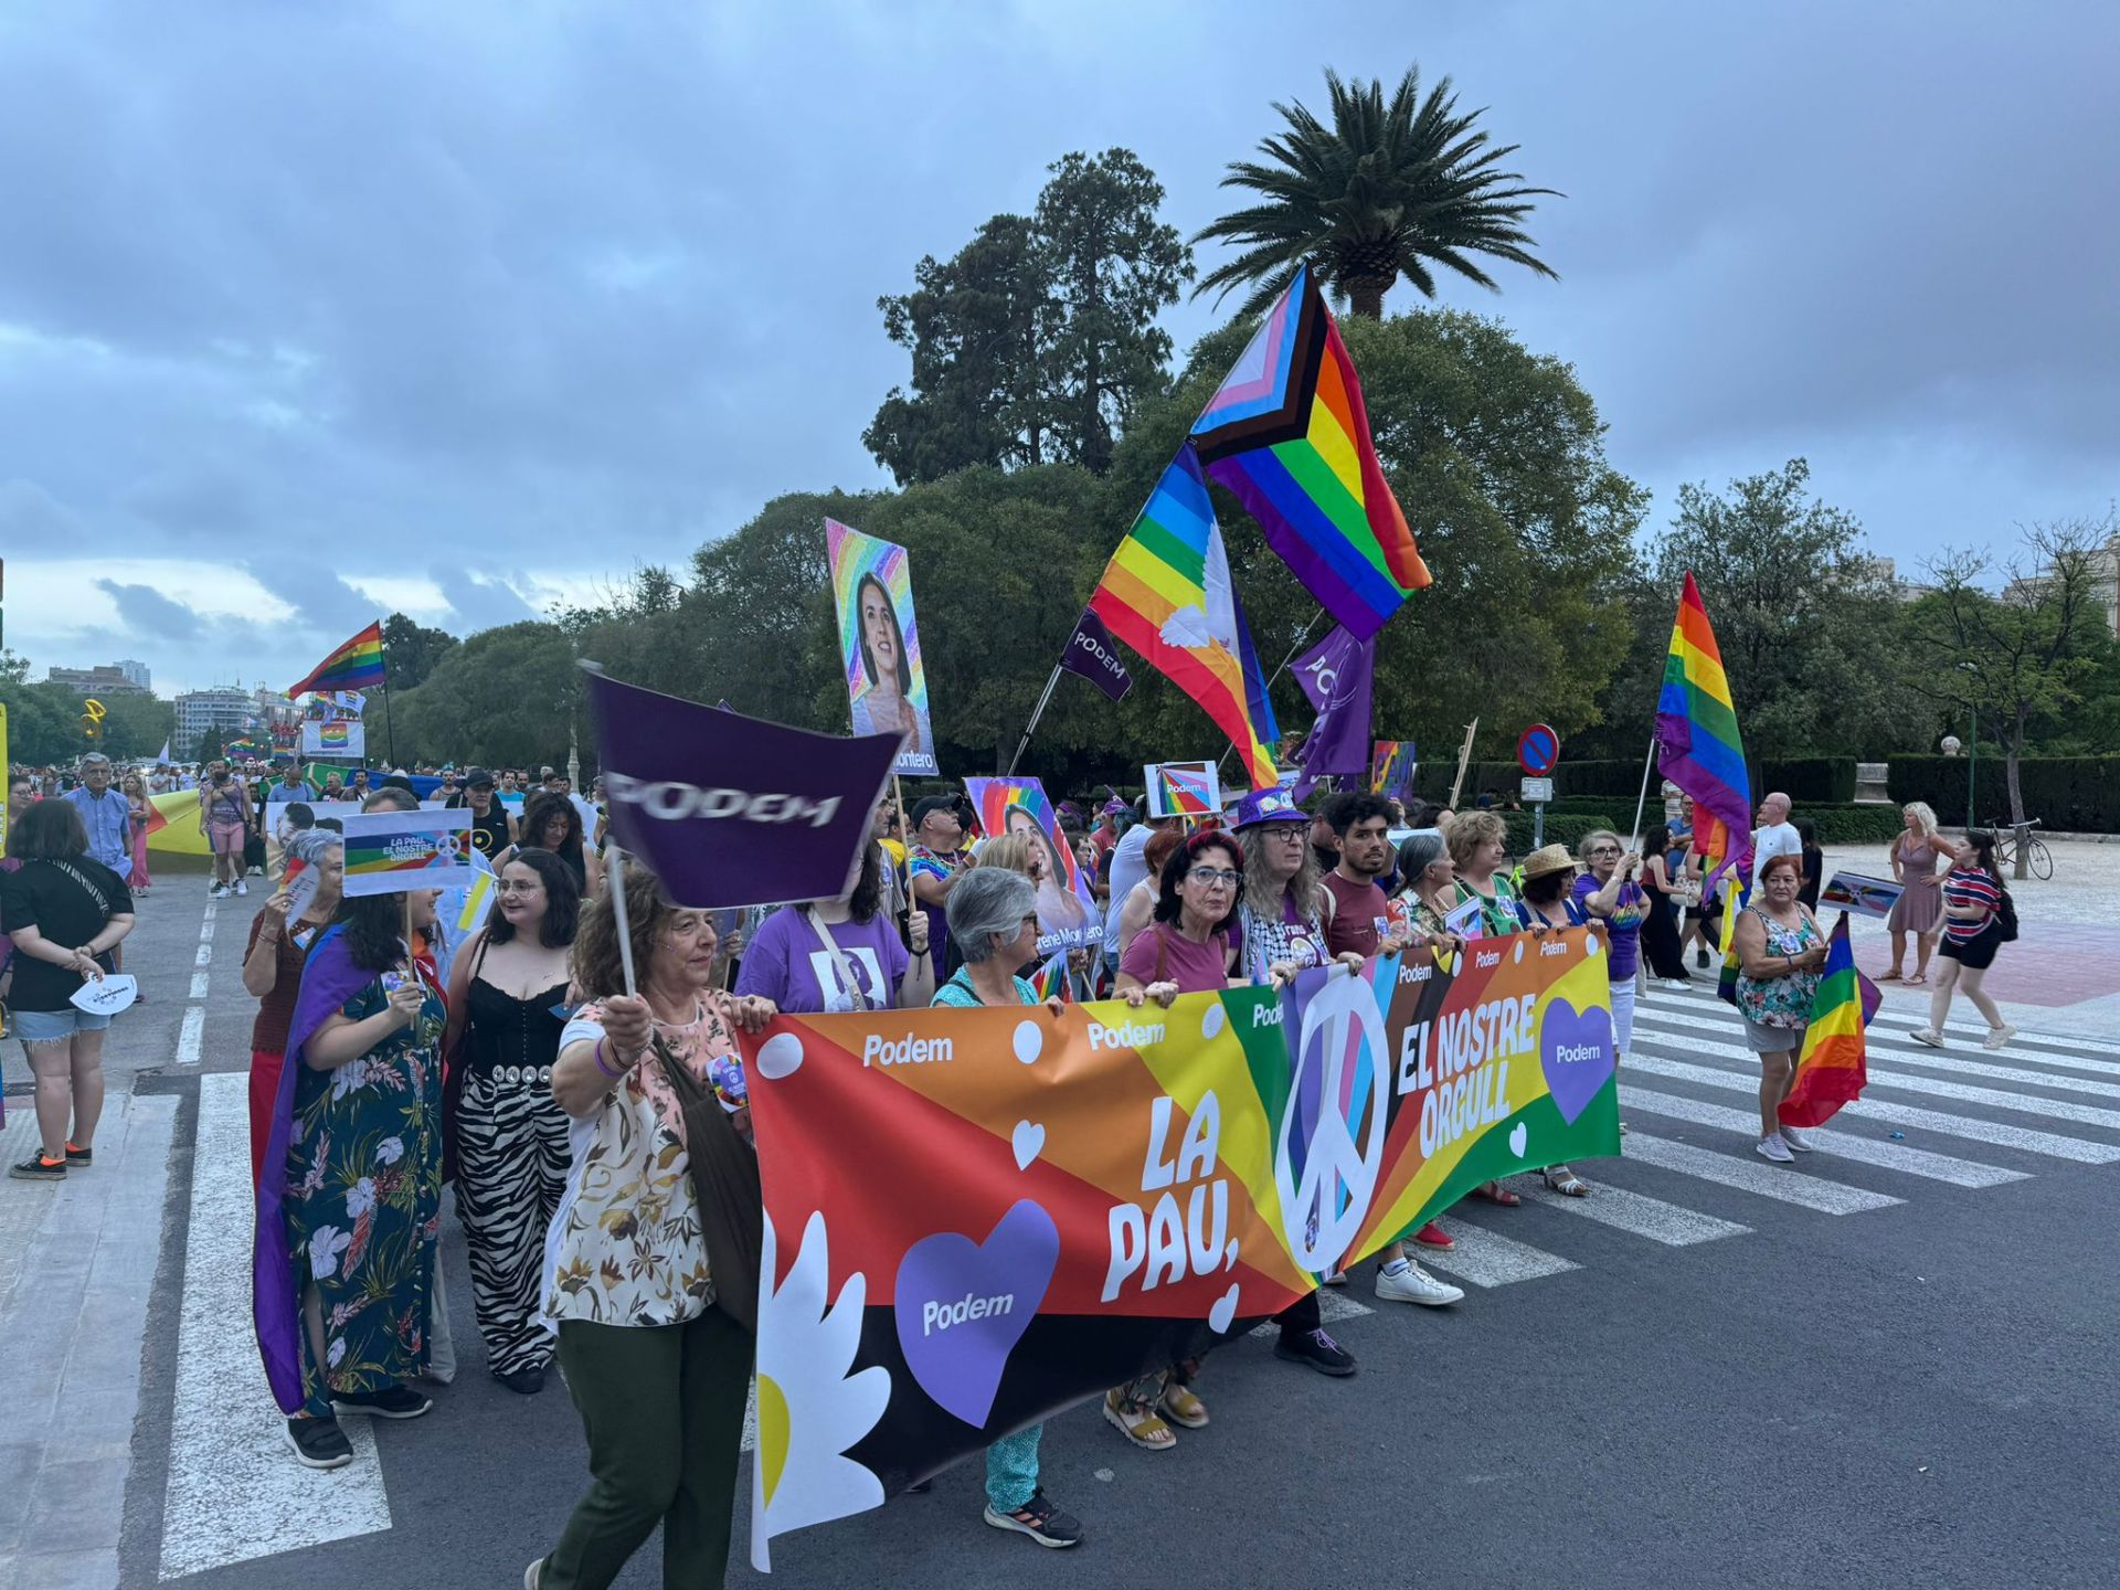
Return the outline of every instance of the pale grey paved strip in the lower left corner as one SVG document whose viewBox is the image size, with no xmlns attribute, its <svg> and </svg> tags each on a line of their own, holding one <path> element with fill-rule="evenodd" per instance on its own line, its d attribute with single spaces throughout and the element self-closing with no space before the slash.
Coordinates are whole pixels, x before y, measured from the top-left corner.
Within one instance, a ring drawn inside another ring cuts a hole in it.
<svg viewBox="0 0 2120 1590">
<path fill-rule="evenodd" d="M 11 1162 L 34 1141 L 8 1109 Z M 0 1431 L 0 1590 L 112 1590 L 155 1304 L 178 1098 L 112 1092 L 95 1166 L 0 1179 L 0 1344 L 15 1389 Z"/>
</svg>

